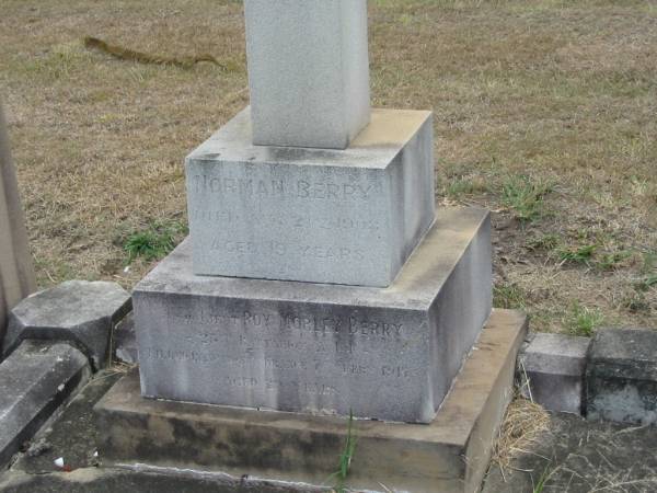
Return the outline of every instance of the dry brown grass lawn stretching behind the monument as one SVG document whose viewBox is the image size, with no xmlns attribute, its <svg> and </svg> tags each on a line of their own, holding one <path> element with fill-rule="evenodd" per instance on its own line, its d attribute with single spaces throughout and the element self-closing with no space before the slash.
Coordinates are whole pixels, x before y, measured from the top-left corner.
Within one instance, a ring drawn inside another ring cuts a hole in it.
<svg viewBox="0 0 657 493">
<path fill-rule="evenodd" d="M 496 210 L 496 302 L 540 330 L 657 326 L 657 3 L 370 0 L 370 32 L 373 103 L 435 112 L 438 200 Z M 3 0 L 0 84 L 39 283 L 131 286 L 150 265 L 123 272 L 126 236 L 185 220 L 185 153 L 247 104 L 242 7 Z M 529 222 L 503 193 L 519 175 L 550 185 Z"/>
</svg>

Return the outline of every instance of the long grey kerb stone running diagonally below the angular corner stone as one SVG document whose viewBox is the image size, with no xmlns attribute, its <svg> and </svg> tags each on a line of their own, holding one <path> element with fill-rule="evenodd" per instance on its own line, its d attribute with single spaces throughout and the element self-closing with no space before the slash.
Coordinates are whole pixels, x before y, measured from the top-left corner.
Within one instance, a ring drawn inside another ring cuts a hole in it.
<svg viewBox="0 0 657 493">
<path fill-rule="evenodd" d="M 90 375 L 74 347 L 25 341 L 0 364 L 0 467 Z"/>
</svg>

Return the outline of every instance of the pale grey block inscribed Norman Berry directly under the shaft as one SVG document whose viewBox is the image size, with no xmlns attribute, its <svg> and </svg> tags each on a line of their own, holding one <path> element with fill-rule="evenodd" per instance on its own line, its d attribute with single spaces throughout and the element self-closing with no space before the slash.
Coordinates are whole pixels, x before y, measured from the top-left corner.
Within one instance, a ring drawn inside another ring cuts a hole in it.
<svg viewBox="0 0 657 493">
<path fill-rule="evenodd" d="M 434 221 L 429 112 L 343 151 L 253 146 L 245 110 L 186 160 L 194 273 L 385 287 Z"/>
</svg>

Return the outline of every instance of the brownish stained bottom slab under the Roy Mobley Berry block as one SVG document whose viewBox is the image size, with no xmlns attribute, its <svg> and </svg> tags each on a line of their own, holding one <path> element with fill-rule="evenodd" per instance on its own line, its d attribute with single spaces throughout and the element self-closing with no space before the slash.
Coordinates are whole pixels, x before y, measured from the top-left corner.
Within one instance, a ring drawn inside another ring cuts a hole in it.
<svg viewBox="0 0 657 493">
<path fill-rule="evenodd" d="M 512 395 L 525 330 L 522 314 L 494 310 L 477 351 L 430 424 L 356 421 L 349 486 L 477 491 Z M 105 465 L 139 462 L 311 484 L 326 484 L 335 472 L 347 431 L 346 420 L 338 417 L 143 399 L 136 372 L 95 411 Z"/>
</svg>

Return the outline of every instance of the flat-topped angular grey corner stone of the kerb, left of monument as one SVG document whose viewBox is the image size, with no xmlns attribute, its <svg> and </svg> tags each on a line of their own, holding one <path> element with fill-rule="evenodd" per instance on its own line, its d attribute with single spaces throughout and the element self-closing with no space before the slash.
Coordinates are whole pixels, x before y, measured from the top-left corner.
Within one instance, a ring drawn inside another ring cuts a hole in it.
<svg viewBox="0 0 657 493">
<path fill-rule="evenodd" d="M 130 306 L 130 295 L 116 283 L 61 283 L 11 311 L 3 351 L 10 353 L 26 339 L 70 341 L 101 368 L 108 359 L 112 328 Z"/>
</svg>

